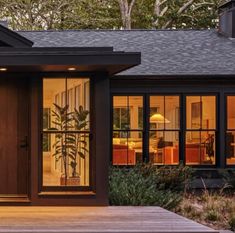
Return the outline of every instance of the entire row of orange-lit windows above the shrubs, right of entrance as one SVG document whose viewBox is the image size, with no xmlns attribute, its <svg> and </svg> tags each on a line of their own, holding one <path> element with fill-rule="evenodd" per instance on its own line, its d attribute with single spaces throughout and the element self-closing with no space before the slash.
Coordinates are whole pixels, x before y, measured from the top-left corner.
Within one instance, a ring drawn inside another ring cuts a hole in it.
<svg viewBox="0 0 235 233">
<path fill-rule="evenodd" d="M 227 105 L 227 164 L 235 165 L 235 96 Z M 216 112 L 215 95 L 114 96 L 113 164 L 215 165 Z"/>
</svg>

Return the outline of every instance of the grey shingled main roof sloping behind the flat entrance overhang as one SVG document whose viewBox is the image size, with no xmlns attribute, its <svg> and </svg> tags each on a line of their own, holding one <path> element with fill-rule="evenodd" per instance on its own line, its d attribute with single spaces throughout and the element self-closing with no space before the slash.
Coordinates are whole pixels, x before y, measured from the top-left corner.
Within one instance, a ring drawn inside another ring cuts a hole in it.
<svg viewBox="0 0 235 233">
<path fill-rule="evenodd" d="M 215 30 L 19 31 L 34 47 L 111 46 L 141 52 L 125 75 L 235 75 L 235 40 Z"/>
</svg>

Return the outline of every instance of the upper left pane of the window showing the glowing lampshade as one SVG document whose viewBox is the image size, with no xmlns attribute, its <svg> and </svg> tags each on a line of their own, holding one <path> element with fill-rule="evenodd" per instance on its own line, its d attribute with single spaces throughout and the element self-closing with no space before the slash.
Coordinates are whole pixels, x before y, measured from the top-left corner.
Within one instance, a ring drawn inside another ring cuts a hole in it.
<svg viewBox="0 0 235 233">
<path fill-rule="evenodd" d="M 164 96 L 150 96 L 150 129 L 164 129 L 164 123 L 169 124 L 164 112 Z"/>
</svg>

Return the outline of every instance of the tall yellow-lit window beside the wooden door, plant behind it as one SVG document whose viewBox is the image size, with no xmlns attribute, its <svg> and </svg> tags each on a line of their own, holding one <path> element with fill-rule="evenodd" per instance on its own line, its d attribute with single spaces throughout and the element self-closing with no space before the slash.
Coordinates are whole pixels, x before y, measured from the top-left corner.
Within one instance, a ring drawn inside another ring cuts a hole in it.
<svg viewBox="0 0 235 233">
<path fill-rule="evenodd" d="M 43 79 L 43 186 L 89 186 L 89 79 Z"/>
</svg>

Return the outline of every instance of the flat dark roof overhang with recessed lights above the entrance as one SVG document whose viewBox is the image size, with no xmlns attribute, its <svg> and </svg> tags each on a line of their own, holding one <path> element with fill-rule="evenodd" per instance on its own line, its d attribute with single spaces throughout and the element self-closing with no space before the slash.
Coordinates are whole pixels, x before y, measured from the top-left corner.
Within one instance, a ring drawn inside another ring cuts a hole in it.
<svg viewBox="0 0 235 233">
<path fill-rule="evenodd" d="M 140 62 L 139 52 L 113 51 L 111 47 L 0 48 L 0 68 L 8 72 L 60 72 L 73 67 L 76 71 L 113 75 Z"/>
</svg>

